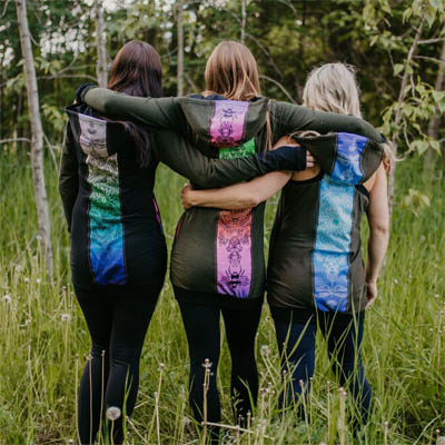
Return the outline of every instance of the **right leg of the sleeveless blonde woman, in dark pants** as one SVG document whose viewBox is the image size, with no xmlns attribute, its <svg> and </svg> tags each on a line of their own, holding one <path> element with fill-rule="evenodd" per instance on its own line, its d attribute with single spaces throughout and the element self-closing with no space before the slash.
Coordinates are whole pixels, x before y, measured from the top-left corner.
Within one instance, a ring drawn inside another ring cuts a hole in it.
<svg viewBox="0 0 445 445">
<path fill-rule="evenodd" d="M 370 388 L 362 363 L 362 340 L 365 312 L 356 316 L 329 314 L 320 324 L 327 336 L 329 358 L 342 386 L 348 385 L 360 418 L 354 424 L 366 424 L 372 412 Z"/>
</svg>

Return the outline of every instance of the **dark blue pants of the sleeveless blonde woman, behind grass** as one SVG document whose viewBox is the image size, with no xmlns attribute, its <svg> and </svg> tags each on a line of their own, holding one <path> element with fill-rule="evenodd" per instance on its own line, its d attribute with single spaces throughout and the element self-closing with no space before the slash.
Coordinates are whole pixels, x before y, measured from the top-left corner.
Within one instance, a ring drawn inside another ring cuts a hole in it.
<svg viewBox="0 0 445 445">
<path fill-rule="evenodd" d="M 353 315 L 336 313 L 318 313 L 309 323 L 294 323 L 291 310 L 270 307 L 277 334 L 277 343 L 281 355 L 281 369 L 291 373 L 286 395 L 281 394 L 281 406 L 291 406 L 303 392 L 310 389 L 310 378 L 315 367 L 315 337 L 317 328 L 327 339 L 327 348 L 332 366 L 342 386 L 348 385 L 355 399 L 358 417 L 354 427 L 365 424 L 372 412 L 370 388 L 362 363 L 362 340 L 365 312 Z M 304 407 L 299 413 L 304 416 Z"/>
</svg>

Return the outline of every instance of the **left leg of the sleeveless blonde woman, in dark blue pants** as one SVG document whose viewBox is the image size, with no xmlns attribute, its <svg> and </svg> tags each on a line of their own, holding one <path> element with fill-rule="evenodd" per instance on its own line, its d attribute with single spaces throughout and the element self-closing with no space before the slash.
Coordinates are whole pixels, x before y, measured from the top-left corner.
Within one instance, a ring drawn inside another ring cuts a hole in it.
<svg viewBox="0 0 445 445">
<path fill-rule="evenodd" d="M 310 389 L 310 378 L 314 375 L 315 367 L 317 325 L 313 320 L 293 323 L 291 310 L 270 307 L 270 313 L 274 318 L 278 350 L 281 356 L 281 372 L 291 376 L 280 395 L 279 403 L 280 407 L 291 407 L 299 400 L 303 388 L 305 389 L 305 397 Z M 304 406 L 300 406 L 299 413 L 304 417 Z"/>
</svg>

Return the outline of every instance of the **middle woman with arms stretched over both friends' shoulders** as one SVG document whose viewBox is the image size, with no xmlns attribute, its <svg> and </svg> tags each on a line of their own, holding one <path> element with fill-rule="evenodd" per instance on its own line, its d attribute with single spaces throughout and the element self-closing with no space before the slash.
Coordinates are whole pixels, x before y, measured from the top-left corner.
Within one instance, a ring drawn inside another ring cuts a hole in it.
<svg viewBox="0 0 445 445">
<path fill-rule="evenodd" d="M 281 136 L 297 130 L 343 130 L 380 140 L 369 123 L 356 117 L 261 97 L 256 61 L 241 43 L 219 43 L 207 62 L 205 78 L 206 91 L 186 98 L 142 99 L 91 87 L 80 93 L 101 112 L 176 130 L 211 158 L 261 158 Z M 168 138 L 157 142 L 168 150 Z M 236 418 L 246 418 L 253 409 L 250 400 L 257 398 L 255 336 L 266 278 L 264 208 L 264 204 L 238 211 L 194 208 L 177 226 L 170 278 L 189 344 L 190 404 L 198 422 L 202 421 L 206 359 L 207 369 L 211 364 L 207 421 L 220 419 L 216 386 L 220 314 L 231 355 Z M 217 429 L 212 437 L 217 441 Z"/>
</svg>

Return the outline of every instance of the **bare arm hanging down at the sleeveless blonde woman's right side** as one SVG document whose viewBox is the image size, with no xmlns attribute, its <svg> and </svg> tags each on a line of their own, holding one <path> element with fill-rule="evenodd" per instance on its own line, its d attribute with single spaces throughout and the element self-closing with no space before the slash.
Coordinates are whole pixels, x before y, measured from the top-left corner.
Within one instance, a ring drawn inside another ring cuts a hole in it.
<svg viewBox="0 0 445 445">
<path fill-rule="evenodd" d="M 369 224 L 368 261 L 366 265 L 366 284 L 368 306 L 377 297 L 377 277 L 385 258 L 389 239 L 388 194 L 385 169 L 377 170 L 375 182 L 369 191 L 367 210 Z"/>
</svg>

